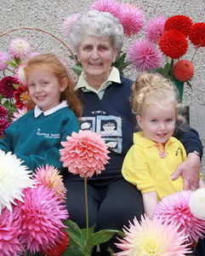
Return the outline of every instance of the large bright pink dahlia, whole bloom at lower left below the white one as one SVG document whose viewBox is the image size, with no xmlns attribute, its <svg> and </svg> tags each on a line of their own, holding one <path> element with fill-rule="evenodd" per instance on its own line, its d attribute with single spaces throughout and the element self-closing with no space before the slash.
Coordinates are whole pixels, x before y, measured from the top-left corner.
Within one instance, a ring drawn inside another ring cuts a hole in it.
<svg viewBox="0 0 205 256">
<path fill-rule="evenodd" d="M 58 236 L 64 235 L 61 220 L 68 218 L 68 212 L 54 192 L 44 186 L 25 189 L 24 194 L 24 202 L 18 202 L 22 218 L 20 243 L 31 253 L 47 251 L 54 247 Z"/>
</svg>

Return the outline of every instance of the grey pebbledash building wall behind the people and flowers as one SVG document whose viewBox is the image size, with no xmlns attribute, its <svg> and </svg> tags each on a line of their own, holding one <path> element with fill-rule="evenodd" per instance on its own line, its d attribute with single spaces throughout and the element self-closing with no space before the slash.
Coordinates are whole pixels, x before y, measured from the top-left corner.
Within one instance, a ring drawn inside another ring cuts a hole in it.
<svg viewBox="0 0 205 256">
<path fill-rule="evenodd" d="M 194 22 L 205 22 L 204 0 L 121 0 L 121 3 L 133 3 L 145 13 L 145 20 L 158 15 L 166 17 L 171 15 L 188 15 Z M 36 27 L 54 34 L 62 39 L 69 46 L 65 37 L 62 24 L 68 15 L 83 13 L 90 9 L 94 0 L 0 0 L 0 32 L 6 32 L 14 28 L 26 26 Z M 143 32 L 134 38 L 128 38 L 124 44 L 124 50 L 128 48 L 134 39 L 143 36 Z M 0 39 L 0 49 L 7 50 L 10 38 L 22 37 L 29 39 L 31 45 L 37 51 L 46 53 L 52 52 L 63 56 L 70 61 L 70 52 L 57 39 L 48 36 L 43 32 L 20 30 L 9 32 Z M 190 49 L 186 55 L 189 60 L 194 49 Z M 205 48 L 199 49 L 195 58 L 195 77 L 192 79 L 192 90 L 185 86 L 184 103 L 191 106 L 191 126 L 200 133 L 202 142 L 205 142 Z M 72 65 L 72 63 L 71 63 Z M 128 67 L 126 76 L 134 79 L 136 71 L 134 67 Z M 73 74 L 74 75 L 74 74 Z"/>
</svg>

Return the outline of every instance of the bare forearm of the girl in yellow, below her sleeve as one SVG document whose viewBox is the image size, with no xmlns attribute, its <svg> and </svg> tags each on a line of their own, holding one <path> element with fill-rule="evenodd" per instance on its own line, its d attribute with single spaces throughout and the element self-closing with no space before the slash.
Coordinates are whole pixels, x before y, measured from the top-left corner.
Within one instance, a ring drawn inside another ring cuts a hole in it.
<svg viewBox="0 0 205 256">
<path fill-rule="evenodd" d="M 154 209 L 157 206 L 157 193 L 154 192 L 148 192 L 142 194 L 142 199 L 143 199 L 143 205 L 145 209 L 145 214 L 149 218 L 153 216 Z"/>
</svg>

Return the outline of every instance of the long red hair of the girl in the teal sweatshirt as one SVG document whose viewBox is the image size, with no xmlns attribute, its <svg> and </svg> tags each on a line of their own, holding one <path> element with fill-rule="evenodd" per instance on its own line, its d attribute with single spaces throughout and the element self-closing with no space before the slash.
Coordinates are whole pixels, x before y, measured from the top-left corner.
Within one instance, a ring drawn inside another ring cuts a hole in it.
<svg viewBox="0 0 205 256">
<path fill-rule="evenodd" d="M 29 73 L 33 67 L 37 66 L 46 67 L 49 72 L 54 74 L 59 83 L 61 83 L 63 79 L 67 79 L 68 84 L 66 89 L 61 92 L 60 102 L 65 100 L 69 104 L 72 111 L 79 118 L 82 114 L 82 104 L 74 90 L 74 82 L 71 79 L 71 75 L 68 73 L 65 66 L 60 62 L 59 58 L 52 54 L 36 55 L 32 57 L 26 62 L 26 66 L 24 67 L 26 80 L 28 79 Z"/>
</svg>

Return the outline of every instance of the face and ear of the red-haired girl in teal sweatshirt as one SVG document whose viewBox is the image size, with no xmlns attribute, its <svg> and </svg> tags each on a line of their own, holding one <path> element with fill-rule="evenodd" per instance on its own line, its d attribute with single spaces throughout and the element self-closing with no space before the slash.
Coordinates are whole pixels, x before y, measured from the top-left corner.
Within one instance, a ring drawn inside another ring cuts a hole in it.
<svg viewBox="0 0 205 256">
<path fill-rule="evenodd" d="M 34 67 L 27 77 L 29 96 L 43 111 L 60 104 L 60 94 L 67 87 L 66 79 L 59 83 L 53 73 L 43 66 Z"/>
</svg>

